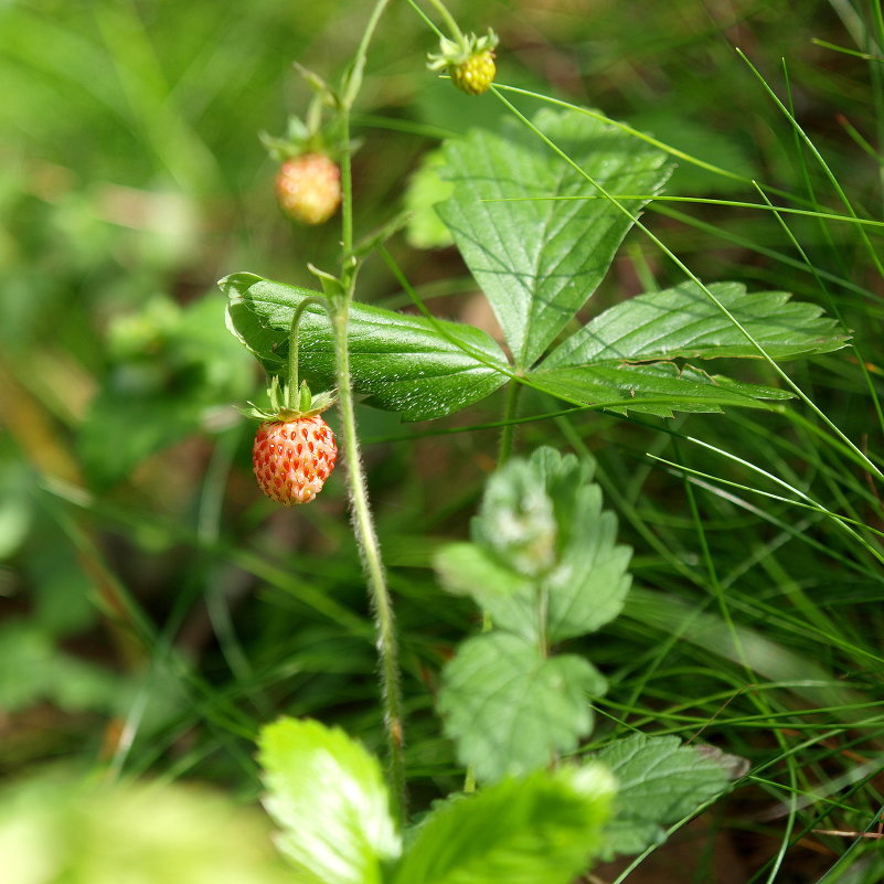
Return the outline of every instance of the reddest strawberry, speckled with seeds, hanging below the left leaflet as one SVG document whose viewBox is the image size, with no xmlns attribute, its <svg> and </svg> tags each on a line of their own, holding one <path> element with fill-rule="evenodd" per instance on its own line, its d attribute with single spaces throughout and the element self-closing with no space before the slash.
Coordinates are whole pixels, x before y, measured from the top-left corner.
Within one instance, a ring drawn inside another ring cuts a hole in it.
<svg viewBox="0 0 884 884">
<path fill-rule="evenodd" d="M 265 420 L 252 448 L 262 491 L 286 507 L 309 503 L 322 490 L 337 459 L 334 434 L 318 414 Z"/>
</svg>

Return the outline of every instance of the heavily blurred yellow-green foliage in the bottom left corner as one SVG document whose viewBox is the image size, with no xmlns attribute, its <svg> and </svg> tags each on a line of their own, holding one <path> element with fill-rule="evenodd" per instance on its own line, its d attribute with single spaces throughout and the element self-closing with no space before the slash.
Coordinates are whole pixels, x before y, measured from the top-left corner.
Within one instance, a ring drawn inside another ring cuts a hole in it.
<svg viewBox="0 0 884 884">
<path fill-rule="evenodd" d="M 265 821 L 180 785 L 109 787 L 62 776 L 0 795 L 3 884 L 285 884 Z"/>
</svg>

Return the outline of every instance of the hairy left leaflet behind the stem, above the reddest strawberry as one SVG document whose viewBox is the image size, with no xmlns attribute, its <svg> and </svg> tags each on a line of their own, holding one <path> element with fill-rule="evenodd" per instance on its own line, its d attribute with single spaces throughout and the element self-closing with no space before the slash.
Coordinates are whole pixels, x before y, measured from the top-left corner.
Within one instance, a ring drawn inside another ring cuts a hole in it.
<svg viewBox="0 0 884 884">
<path fill-rule="evenodd" d="M 284 371 L 292 311 L 317 292 L 253 274 L 220 285 L 230 298 L 230 330 L 269 373 Z M 484 398 L 510 372 L 501 349 L 479 329 L 377 307 L 351 307 L 349 342 L 353 388 L 406 420 L 441 417 Z M 333 386 L 331 327 L 320 307 L 305 310 L 298 347 L 299 372 L 313 390 Z"/>
</svg>

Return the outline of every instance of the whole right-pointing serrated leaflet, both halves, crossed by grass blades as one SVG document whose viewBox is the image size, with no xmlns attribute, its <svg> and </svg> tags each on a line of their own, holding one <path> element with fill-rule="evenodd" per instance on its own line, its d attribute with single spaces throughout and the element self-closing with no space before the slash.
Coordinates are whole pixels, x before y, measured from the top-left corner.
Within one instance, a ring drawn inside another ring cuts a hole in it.
<svg viewBox="0 0 884 884">
<path fill-rule="evenodd" d="M 616 402 L 627 393 L 629 411 L 662 416 L 720 412 L 724 405 L 764 407 L 764 400 L 790 394 L 658 360 L 758 358 L 746 334 L 777 360 L 838 350 L 848 338 L 833 319 L 820 316 L 819 307 L 790 301 L 785 291 L 747 294 L 735 283 L 715 283 L 709 290 L 729 317 L 694 283 L 639 295 L 572 334 L 531 372 L 531 380 L 586 404 Z"/>
</svg>

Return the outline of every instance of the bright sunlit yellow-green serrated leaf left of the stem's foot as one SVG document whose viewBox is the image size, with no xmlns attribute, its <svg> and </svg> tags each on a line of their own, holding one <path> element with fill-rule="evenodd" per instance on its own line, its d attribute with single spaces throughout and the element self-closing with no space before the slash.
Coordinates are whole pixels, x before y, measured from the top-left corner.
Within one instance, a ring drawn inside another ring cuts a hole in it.
<svg viewBox="0 0 884 884">
<path fill-rule="evenodd" d="M 264 806 L 305 884 L 380 884 L 401 850 L 377 759 L 340 728 L 283 718 L 262 731 Z"/>
</svg>

